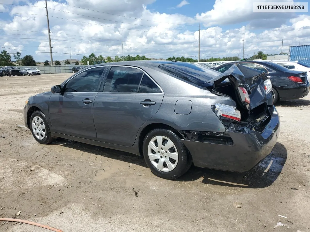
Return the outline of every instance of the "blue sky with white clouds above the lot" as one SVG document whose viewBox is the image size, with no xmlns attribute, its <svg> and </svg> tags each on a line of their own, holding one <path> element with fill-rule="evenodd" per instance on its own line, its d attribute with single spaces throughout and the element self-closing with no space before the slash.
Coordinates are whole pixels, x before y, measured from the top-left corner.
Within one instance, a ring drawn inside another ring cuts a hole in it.
<svg viewBox="0 0 310 232">
<path fill-rule="evenodd" d="M 257 1 L 62 0 L 63 5 L 48 0 L 53 57 L 67 59 L 70 51 L 71 58 L 78 59 L 91 52 L 120 56 L 123 40 L 124 55 L 167 58 L 188 54 L 197 58 L 199 22 L 201 58 L 239 55 L 243 31 L 245 57 L 257 50 L 281 52 L 282 37 L 284 51 L 289 44 L 310 43 L 309 13 L 253 13 L 253 2 Z M 7 2 L 0 0 L 0 12 L 10 13 L 0 13 L 0 28 L 5 29 L 0 32 L 1 49 L 32 54 L 38 61 L 49 60 L 45 1 L 12 2 L 29 6 L 1 4 Z"/>
</svg>

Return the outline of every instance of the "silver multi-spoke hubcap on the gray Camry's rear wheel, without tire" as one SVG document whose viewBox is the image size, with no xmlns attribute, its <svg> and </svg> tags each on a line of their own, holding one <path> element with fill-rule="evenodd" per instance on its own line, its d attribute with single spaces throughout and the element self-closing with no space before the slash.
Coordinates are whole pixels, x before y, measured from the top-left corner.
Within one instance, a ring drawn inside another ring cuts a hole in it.
<svg viewBox="0 0 310 232">
<path fill-rule="evenodd" d="M 148 144 L 148 157 L 152 165 L 163 172 L 170 172 L 178 164 L 175 144 L 165 136 L 158 135 Z"/>
</svg>

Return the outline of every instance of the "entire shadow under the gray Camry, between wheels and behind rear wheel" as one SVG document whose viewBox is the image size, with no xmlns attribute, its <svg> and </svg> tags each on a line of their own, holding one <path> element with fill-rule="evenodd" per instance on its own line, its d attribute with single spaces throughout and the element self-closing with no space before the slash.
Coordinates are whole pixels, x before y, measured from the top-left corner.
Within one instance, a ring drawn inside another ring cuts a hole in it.
<svg viewBox="0 0 310 232">
<path fill-rule="evenodd" d="M 104 156 L 148 168 L 143 157 L 127 152 L 61 138 L 57 139 L 51 144 L 61 145 L 82 152 L 93 153 L 95 155 Z M 192 166 L 187 173 L 185 173 L 180 178 L 175 179 L 174 181 L 186 182 L 203 178 L 201 183 L 205 184 L 243 188 L 264 188 L 270 186 L 278 178 L 279 174 L 281 174 L 283 165 L 286 162 L 286 158 L 286 148 L 283 144 L 277 143 L 273 148 L 272 153 L 263 162 L 248 172 L 236 173 Z M 270 162 L 272 162 L 272 164 L 266 171 Z"/>
</svg>

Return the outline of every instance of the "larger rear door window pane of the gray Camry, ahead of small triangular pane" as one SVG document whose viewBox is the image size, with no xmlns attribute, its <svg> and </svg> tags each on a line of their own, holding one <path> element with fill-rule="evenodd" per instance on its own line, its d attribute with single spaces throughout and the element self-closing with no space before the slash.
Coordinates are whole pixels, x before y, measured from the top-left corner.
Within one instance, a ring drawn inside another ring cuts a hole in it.
<svg viewBox="0 0 310 232">
<path fill-rule="evenodd" d="M 143 72 L 131 67 L 111 67 L 103 92 L 138 92 Z"/>
</svg>

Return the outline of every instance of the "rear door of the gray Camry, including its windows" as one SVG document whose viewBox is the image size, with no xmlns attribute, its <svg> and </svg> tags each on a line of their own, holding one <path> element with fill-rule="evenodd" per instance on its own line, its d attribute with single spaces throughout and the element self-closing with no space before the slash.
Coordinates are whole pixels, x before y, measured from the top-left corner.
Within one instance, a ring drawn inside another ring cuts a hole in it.
<svg viewBox="0 0 310 232">
<path fill-rule="evenodd" d="M 162 104 L 164 93 L 137 67 L 111 66 L 94 103 L 97 140 L 132 146 L 139 128 Z"/>
</svg>

